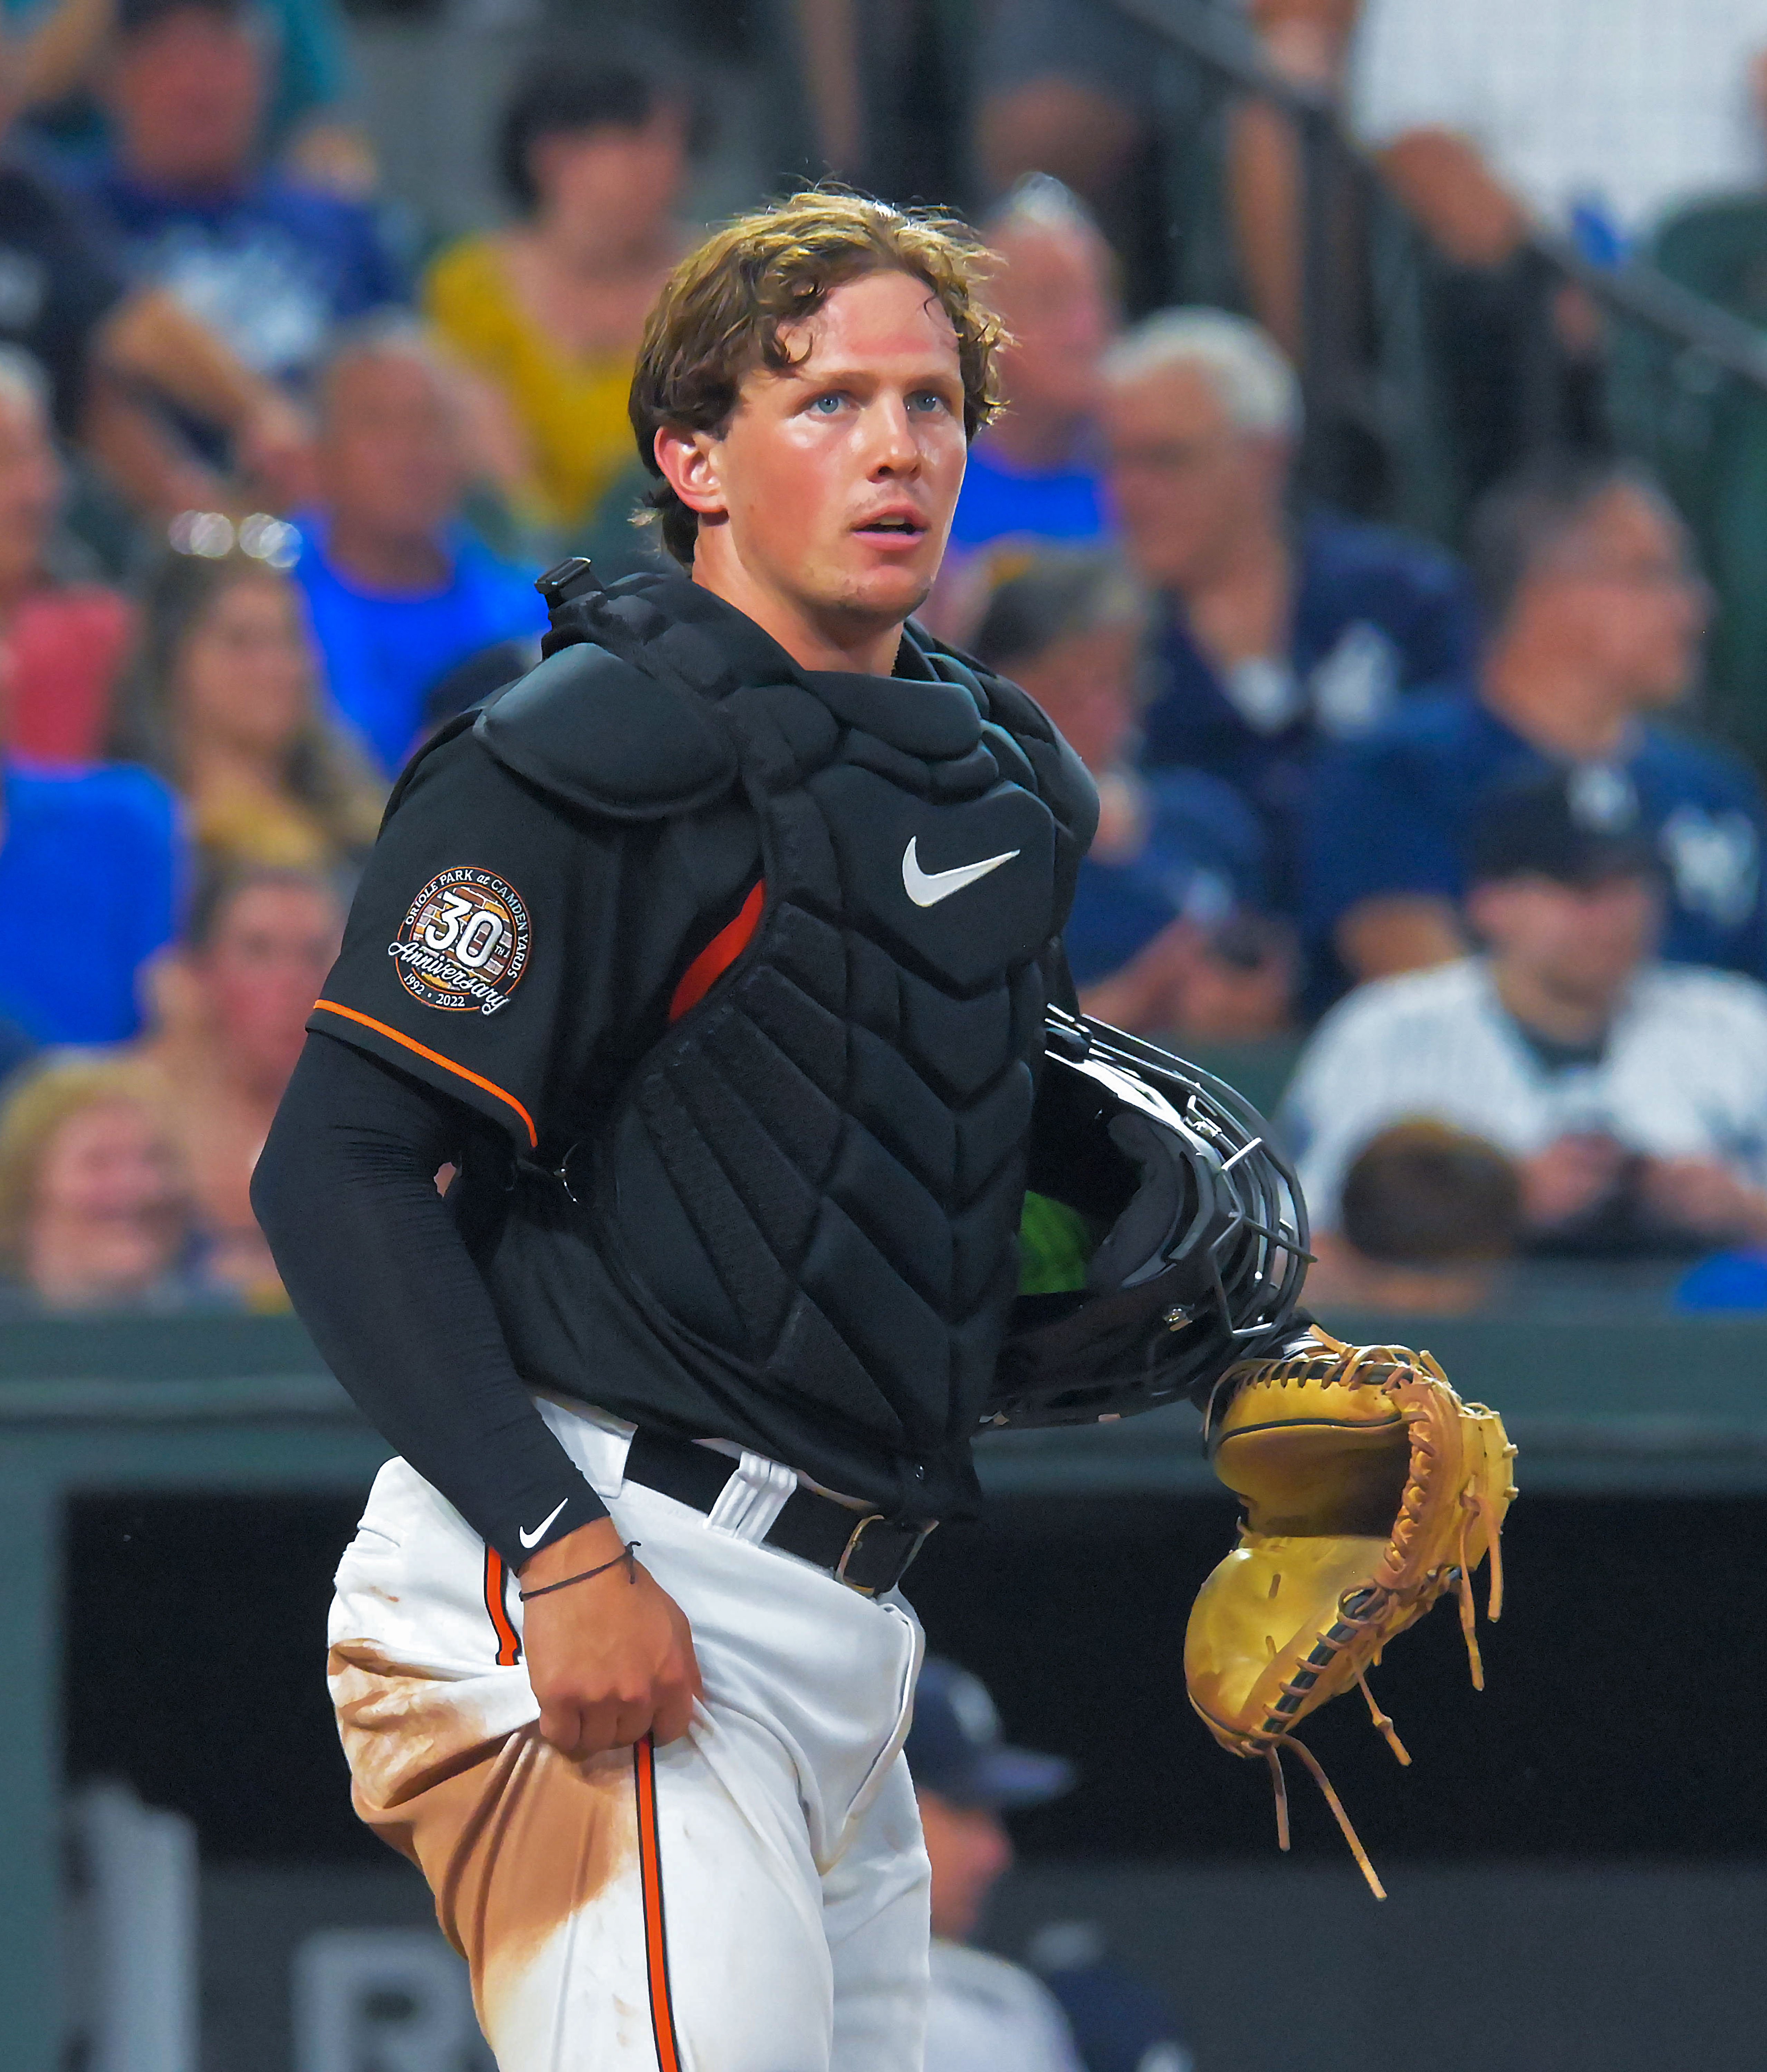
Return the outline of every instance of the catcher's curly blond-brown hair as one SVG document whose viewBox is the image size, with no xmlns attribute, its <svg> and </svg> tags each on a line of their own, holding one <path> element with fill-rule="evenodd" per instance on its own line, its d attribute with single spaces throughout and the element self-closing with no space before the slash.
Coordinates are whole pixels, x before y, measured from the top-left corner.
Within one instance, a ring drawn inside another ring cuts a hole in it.
<svg viewBox="0 0 1767 2072">
<path fill-rule="evenodd" d="M 661 514 L 669 553 L 692 568 L 700 520 L 663 481 L 657 433 L 721 431 L 744 375 L 793 365 L 781 329 L 866 274 L 911 274 L 932 290 L 957 332 L 963 431 L 974 439 L 1001 408 L 994 354 L 1005 329 L 980 292 L 988 261 L 955 215 L 820 186 L 740 215 L 690 253 L 644 325 L 630 400 L 638 454 L 657 477 L 650 512 Z"/>
</svg>

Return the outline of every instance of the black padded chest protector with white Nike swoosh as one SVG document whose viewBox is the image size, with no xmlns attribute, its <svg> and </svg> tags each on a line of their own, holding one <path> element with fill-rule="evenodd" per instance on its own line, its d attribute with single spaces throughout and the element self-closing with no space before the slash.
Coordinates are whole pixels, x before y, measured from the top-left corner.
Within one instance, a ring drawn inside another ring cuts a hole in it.
<svg viewBox="0 0 1767 2072">
<path fill-rule="evenodd" d="M 630 818 L 735 787 L 764 874 L 742 957 L 563 1160 L 595 1251 L 711 1394 L 949 1448 L 1017 1287 L 1092 783 L 1021 692 L 930 646 L 905 649 L 924 680 L 802 675 L 679 578 L 582 599 L 568 632 L 485 746 Z"/>
</svg>

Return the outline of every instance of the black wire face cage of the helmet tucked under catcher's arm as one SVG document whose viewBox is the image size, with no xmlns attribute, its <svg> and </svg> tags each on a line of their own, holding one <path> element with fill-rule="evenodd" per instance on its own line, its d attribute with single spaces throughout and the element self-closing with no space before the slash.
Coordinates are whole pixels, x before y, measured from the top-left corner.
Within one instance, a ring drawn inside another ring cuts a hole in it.
<svg viewBox="0 0 1767 2072">
<path fill-rule="evenodd" d="M 1009 1332 L 990 1426 L 1092 1423 L 1206 1394 L 1235 1359 L 1282 1334 L 1309 1262 L 1301 1187 L 1251 1102 L 1061 1009 L 1048 1013 L 1048 1069 L 1081 1073 L 1106 1113 L 1139 1111 L 1179 1138 L 1195 1198 L 1185 1227 L 1117 1289 L 1061 1299 L 1054 1316 L 1042 1299 L 1042 1314 Z"/>
</svg>

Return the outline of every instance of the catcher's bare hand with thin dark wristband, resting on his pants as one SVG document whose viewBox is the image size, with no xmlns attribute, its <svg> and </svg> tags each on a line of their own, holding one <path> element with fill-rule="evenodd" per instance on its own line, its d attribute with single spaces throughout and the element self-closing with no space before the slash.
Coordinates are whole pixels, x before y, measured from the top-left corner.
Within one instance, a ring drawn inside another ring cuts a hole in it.
<svg viewBox="0 0 1767 2072">
<path fill-rule="evenodd" d="M 580 1525 L 522 1569 L 522 1589 L 619 1558 L 613 1519 Z M 541 1701 L 541 1736 L 559 1755 L 603 1755 L 655 1734 L 679 1740 L 700 1695 L 694 1637 L 682 1608 L 638 1560 L 572 1583 L 524 1606 L 528 1680 Z"/>
</svg>

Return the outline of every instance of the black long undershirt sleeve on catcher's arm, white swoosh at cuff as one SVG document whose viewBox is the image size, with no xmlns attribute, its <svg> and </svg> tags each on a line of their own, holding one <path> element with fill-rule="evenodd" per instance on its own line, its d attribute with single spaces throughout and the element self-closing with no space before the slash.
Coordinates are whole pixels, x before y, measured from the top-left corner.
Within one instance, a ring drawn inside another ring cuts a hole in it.
<svg viewBox="0 0 1767 2072">
<path fill-rule="evenodd" d="M 363 1415 L 520 1566 L 607 1508 L 522 1386 L 435 1189 L 437 1171 L 485 1131 L 464 1102 L 311 1034 L 257 1162 L 253 1208 Z"/>
</svg>

